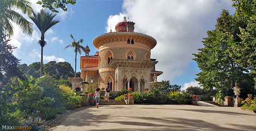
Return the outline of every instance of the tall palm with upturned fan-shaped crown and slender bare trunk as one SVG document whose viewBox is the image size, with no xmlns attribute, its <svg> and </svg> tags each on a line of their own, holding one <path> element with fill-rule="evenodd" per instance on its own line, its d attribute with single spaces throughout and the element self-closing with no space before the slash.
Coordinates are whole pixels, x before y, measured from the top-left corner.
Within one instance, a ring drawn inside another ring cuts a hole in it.
<svg viewBox="0 0 256 131">
<path fill-rule="evenodd" d="M 41 45 L 41 65 L 40 65 L 40 76 L 42 76 L 42 57 L 43 57 L 43 48 L 46 45 L 45 41 L 45 32 L 50 29 L 53 25 L 59 23 L 59 20 L 54 20 L 53 18 L 57 14 L 50 14 L 45 9 L 41 9 L 37 14 L 33 11 L 33 16 L 30 16 L 32 21 L 35 23 L 36 27 L 41 32 L 41 40 L 38 41 L 38 44 Z"/>
</svg>

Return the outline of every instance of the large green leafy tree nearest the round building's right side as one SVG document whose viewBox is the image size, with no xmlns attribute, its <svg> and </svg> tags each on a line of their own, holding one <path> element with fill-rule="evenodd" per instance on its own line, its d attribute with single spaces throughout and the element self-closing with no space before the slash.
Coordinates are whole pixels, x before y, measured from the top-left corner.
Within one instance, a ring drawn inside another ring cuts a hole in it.
<svg viewBox="0 0 256 131">
<path fill-rule="evenodd" d="M 245 25 L 242 18 L 229 15 L 227 10 L 223 10 L 221 17 L 217 18 L 216 29 L 208 31 L 208 37 L 204 38 L 204 48 L 198 49 L 198 54 L 193 54 L 202 70 L 197 74 L 199 84 L 206 89 L 213 87 L 234 87 L 239 80 L 245 68 L 237 65 L 234 59 L 230 57 L 232 52 L 231 45 L 234 42 L 241 41 L 236 34 L 240 34 L 239 26 Z"/>
</svg>

